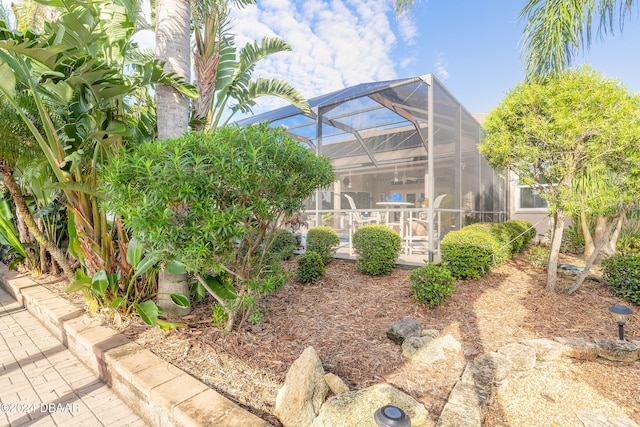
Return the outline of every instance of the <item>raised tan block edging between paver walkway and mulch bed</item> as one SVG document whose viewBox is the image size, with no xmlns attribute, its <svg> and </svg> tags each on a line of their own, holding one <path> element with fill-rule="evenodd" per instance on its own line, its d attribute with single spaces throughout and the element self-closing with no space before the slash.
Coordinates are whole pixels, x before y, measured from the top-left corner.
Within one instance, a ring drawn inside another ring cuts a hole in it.
<svg viewBox="0 0 640 427">
<path fill-rule="evenodd" d="M 0 285 L 152 426 L 266 427 L 182 369 L 0 263 Z"/>
</svg>

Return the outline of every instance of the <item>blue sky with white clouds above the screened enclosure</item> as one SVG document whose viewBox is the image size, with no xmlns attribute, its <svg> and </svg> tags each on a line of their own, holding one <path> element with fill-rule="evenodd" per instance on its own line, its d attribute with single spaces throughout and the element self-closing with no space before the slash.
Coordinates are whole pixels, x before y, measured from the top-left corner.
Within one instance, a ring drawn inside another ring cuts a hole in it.
<svg viewBox="0 0 640 427">
<path fill-rule="evenodd" d="M 2 0 L 10 3 L 10 0 Z M 238 46 L 264 36 L 292 47 L 262 60 L 254 77 L 279 78 L 312 98 L 358 83 L 434 74 L 472 113 L 488 113 L 524 79 L 524 0 L 258 0 L 233 13 Z M 640 8 L 623 31 L 597 37 L 576 64 L 640 93 Z M 148 36 L 153 40 L 153 36 Z M 263 98 L 254 112 L 283 105 Z"/>
</svg>

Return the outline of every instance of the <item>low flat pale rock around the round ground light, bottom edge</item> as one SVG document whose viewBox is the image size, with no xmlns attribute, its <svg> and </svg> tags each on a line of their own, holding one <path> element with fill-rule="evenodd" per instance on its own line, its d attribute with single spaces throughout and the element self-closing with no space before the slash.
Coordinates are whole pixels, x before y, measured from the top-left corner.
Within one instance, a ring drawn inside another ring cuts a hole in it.
<svg viewBox="0 0 640 427">
<path fill-rule="evenodd" d="M 424 405 L 389 384 L 376 384 L 335 396 L 325 402 L 312 427 L 376 427 L 373 414 L 385 405 L 402 409 L 411 425 L 432 426 Z"/>
</svg>

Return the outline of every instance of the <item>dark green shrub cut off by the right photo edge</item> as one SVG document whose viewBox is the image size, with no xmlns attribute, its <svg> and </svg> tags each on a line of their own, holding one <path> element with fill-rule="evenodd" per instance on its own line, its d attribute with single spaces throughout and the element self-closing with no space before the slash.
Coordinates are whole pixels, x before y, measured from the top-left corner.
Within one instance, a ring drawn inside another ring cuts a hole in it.
<svg viewBox="0 0 640 427">
<path fill-rule="evenodd" d="M 614 255 L 602 260 L 602 274 L 620 298 L 640 304 L 640 254 Z"/>
</svg>

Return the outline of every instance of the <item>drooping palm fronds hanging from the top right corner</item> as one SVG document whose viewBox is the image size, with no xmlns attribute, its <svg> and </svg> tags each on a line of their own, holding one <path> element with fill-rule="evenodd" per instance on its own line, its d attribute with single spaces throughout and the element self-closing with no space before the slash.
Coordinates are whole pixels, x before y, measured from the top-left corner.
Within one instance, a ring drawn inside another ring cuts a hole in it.
<svg viewBox="0 0 640 427">
<path fill-rule="evenodd" d="M 542 79 L 571 65 L 591 45 L 594 21 L 601 36 L 613 32 L 616 14 L 620 27 L 630 15 L 632 0 L 529 0 L 520 16 L 524 31 L 528 80 Z"/>
</svg>

